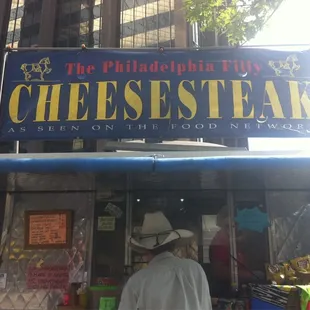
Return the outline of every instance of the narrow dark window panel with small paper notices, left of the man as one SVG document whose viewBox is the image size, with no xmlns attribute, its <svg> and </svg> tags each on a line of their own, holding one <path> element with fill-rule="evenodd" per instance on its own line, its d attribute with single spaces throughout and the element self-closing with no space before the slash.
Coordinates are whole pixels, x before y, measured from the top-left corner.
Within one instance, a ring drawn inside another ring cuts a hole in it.
<svg viewBox="0 0 310 310">
<path fill-rule="evenodd" d="M 104 279 L 121 283 L 127 221 L 126 174 L 108 173 L 96 176 L 93 222 L 91 285 L 104 284 Z"/>
</svg>

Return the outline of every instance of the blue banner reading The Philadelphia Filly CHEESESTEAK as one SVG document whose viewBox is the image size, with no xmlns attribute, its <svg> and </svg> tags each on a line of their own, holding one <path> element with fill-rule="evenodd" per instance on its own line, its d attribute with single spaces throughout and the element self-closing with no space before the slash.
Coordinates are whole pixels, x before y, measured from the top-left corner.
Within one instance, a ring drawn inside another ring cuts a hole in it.
<svg viewBox="0 0 310 310">
<path fill-rule="evenodd" d="M 310 51 L 10 52 L 0 140 L 310 136 Z"/>
</svg>

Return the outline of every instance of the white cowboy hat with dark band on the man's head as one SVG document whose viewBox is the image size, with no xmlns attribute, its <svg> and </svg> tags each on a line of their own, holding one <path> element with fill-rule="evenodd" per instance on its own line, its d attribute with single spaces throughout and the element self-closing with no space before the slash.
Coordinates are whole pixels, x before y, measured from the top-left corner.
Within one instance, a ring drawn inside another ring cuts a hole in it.
<svg viewBox="0 0 310 310">
<path fill-rule="evenodd" d="M 129 243 L 137 249 L 154 250 L 172 241 L 191 238 L 194 234 L 185 229 L 173 229 L 162 212 L 146 213 L 137 238 L 130 237 Z"/>
</svg>

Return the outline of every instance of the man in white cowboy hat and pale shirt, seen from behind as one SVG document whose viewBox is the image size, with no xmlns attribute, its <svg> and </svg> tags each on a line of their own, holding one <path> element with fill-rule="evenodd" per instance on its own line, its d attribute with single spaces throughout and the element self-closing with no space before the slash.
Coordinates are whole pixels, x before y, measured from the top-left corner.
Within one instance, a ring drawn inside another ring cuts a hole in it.
<svg viewBox="0 0 310 310">
<path fill-rule="evenodd" d="M 141 234 L 130 245 L 143 251 L 148 266 L 127 282 L 119 310 L 211 310 L 209 284 L 201 266 L 175 257 L 175 245 L 188 230 L 173 230 L 162 212 L 147 213 Z"/>
</svg>

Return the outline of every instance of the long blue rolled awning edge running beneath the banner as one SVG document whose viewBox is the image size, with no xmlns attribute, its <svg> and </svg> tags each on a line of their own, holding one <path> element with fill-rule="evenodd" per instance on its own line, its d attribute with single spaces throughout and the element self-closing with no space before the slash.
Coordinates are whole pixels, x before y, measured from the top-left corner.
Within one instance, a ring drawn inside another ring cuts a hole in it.
<svg viewBox="0 0 310 310">
<path fill-rule="evenodd" d="M 305 167 L 309 152 L 123 152 L 1 154 L 0 173 L 10 172 L 175 172 Z"/>
</svg>

